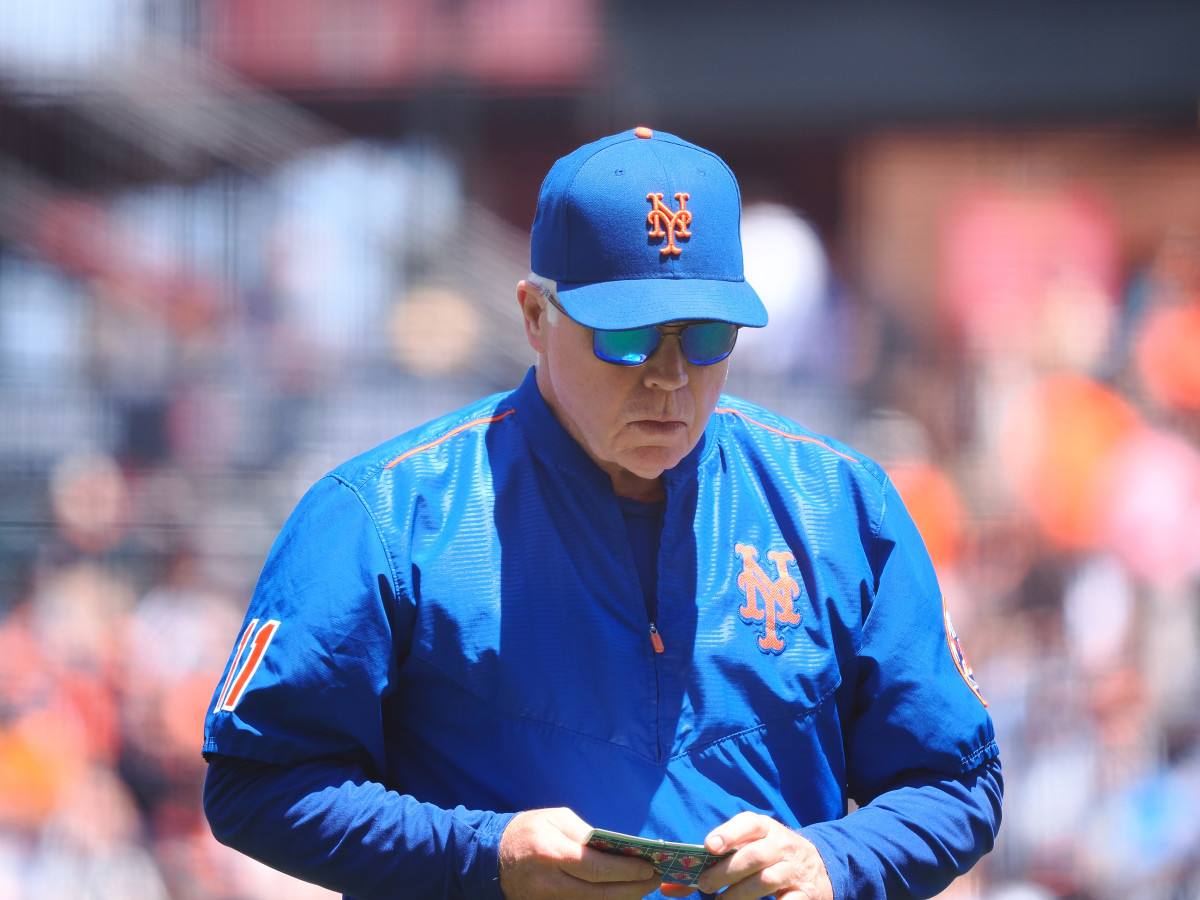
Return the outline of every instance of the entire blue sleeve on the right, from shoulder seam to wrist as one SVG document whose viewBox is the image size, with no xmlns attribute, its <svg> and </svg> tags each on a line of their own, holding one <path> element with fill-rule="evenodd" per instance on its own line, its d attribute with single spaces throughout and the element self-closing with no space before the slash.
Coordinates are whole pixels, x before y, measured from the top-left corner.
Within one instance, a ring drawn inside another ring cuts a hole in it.
<svg viewBox="0 0 1200 900">
<path fill-rule="evenodd" d="M 839 898 L 929 898 L 995 845 L 1003 778 L 986 702 L 924 541 L 884 479 L 844 696 L 858 809 L 803 829 Z"/>
</svg>

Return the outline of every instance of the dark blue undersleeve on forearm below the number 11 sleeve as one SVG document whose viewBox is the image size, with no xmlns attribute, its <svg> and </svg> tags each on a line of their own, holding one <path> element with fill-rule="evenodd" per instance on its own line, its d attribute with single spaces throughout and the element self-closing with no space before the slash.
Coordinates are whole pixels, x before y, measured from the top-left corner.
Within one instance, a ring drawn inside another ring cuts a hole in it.
<svg viewBox="0 0 1200 900">
<path fill-rule="evenodd" d="M 502 900 L 498 853 L 511 814 L 419 803 L 349 763 L 214 754 L 204 811 L 222 844 L 359 900 Z"/>
</svg>

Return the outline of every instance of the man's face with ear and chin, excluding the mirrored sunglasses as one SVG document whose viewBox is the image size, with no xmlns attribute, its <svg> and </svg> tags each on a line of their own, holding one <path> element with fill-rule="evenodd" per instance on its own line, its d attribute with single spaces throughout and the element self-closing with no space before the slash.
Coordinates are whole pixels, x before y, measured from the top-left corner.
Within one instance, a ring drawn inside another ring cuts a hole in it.
<svg viewBox="0 0 1200 900">
<path fill-rule="evenodd" d="M 612 476 L 618 494 L 660 496 L 659 476 L 704 432 L 728 359 L 694 365 L 679 340 L 665 336 L 641 366 L 604 362 L 592 352 L 590 329 L 563 313 L 551 324 L 536 288 L 517 293 L 529 342 L 538 350 L 538 386 L 559 422 Z M 534 306 L 539 310 L 530 317 Z"/>
</svg>

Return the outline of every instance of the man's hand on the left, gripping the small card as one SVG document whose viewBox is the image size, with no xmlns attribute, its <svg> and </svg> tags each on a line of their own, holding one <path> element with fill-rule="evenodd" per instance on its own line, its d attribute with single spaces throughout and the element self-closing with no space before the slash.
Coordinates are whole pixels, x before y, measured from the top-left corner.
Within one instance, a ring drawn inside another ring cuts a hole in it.
<svg viewBox="0 0 1200 900">
<path fill-rule="evenodd" d="M 588 847 L 590 827 L 569 809 L 518 812 L 500 835 L 505 900 L 640 900 L 660 878 L 644 859 Z"/>
</svg>

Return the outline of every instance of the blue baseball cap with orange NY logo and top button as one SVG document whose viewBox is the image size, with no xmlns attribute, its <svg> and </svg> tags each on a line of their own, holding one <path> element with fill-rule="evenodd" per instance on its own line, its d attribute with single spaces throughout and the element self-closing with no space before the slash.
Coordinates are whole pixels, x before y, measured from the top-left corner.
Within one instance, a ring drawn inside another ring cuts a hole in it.
<svg viewBox="0 0 1200 900">
<path fill-rule="evenodd" d="M 530 268 L 576 322 L 629 329 L 678 319 L 760 328 L 742 265 L 742 196 L 715 154 L 647 127 L 558 160 L 538 196 Z"/>
</svg>

